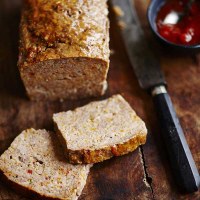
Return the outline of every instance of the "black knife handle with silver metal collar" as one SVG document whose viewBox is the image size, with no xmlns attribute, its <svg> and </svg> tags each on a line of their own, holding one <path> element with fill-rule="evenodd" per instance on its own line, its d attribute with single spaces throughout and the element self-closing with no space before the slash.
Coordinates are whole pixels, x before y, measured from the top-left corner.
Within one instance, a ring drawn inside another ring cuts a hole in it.
<svg viewBox="0 0 200 200">
<path fill-rule="evenodd" d="M 199 173 L 170 96 L 163 85 L 153 88 L 152 96 L 175 181 L 184 192 L 195 192 L 200 185 Z"/>
</svg>

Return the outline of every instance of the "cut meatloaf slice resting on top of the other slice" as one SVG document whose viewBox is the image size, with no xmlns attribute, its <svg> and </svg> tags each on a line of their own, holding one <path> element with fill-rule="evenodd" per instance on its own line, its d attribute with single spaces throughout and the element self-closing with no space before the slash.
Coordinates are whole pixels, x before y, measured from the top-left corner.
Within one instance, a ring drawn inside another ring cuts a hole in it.
<svg viewBox="0 0 200 200">
<path fill-rule="evenodd" d="M 73 164 L 121 156 L 146 142 L 144 122 L 121 95 L 54 114 L 53 120 L 65 156 Z"/>
</svg>

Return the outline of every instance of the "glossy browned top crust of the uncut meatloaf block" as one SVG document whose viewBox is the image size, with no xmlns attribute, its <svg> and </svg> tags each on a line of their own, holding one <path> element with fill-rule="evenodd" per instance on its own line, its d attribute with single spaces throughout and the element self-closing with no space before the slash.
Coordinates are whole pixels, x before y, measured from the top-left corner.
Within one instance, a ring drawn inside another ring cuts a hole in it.
<svg viewBox="0 0 200 200">
<path fill-rule="evenodd" d="M 109 59 L 107 0 L 24 0 L 19 66 L 67 57 Z"/>
</svg>

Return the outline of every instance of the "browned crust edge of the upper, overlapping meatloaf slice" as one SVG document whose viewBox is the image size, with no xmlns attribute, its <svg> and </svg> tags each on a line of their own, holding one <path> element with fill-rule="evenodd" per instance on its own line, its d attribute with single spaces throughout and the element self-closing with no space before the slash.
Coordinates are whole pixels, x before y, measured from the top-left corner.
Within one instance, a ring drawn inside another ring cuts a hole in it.
<svg viewBox="0 0 200 200">
<path fill-rule="evenodd" d="M 134 151 L 138 146 L 146 143 L 146 134 L 138 133 L 132 139 L 122 144 L 116 144 L 115 146 L 108 146 L 102 149 L 96 150 L 70 150 L 67 149 L 67 143 L 60 133 L 57 124 L 54 123 L 57 136 L 64 148 L 65 156 L 72 164 L 89 164 L 98 163 L 104 160 L 110 159 L 114 156 L 122 156 Z"/>
</svg>

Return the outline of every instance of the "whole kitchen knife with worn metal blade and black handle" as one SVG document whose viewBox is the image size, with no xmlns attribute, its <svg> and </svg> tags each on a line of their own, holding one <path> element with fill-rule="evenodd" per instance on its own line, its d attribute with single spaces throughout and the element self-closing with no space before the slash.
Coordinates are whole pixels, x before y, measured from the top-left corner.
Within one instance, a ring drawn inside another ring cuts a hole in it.
<svg viewBox="0 0 200 200">
<path fill-rule="evenodd" d="M 141 88 L 149 91 L 158 113 L 162 138 L 174 173 L 175 181 L 184 192 L 195 192 L 200 177 L 186 142 L 180 122 L 167 93 L 159 62 L 148 46 L 132 0 L 112 0 L 122 37 Z"/>
</svg>

